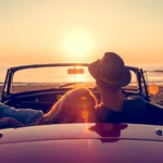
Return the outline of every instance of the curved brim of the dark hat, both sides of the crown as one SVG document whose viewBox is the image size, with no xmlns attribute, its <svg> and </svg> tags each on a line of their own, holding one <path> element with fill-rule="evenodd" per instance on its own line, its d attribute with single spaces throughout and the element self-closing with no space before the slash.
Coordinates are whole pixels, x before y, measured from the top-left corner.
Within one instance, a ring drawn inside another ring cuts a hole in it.
<svg viewBox="0 0 163 163">
<path fill-rule="evenodd" d="M 99 74 L 97 74 L 97 66 L 98 66 L 99 62 L 100 62 L 100 60 L 97 60 L 97 61 L 92 62 L 91 64 L 89 64 L 89 66 L 88 66 L 88 71 L 95 79 L 99 79 L 99 77 L 98 77 Z M 125 87 L 130 83 L 130 79 L 131 79 L 130 72 L 129 72 L 128 67 L 125 66 L 124 72 L 123 72 L 122 82 L 118 85 L 110 84 L 110 86 L 111 87 Z"/>
</svg>

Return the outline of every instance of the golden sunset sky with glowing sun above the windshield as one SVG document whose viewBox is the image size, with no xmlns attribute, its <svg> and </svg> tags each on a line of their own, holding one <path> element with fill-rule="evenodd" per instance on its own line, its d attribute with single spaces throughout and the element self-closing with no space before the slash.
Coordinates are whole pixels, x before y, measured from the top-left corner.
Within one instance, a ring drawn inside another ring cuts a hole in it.
<svg viewBox="0 0 163 163">
<path fill-rule="evenodd" d="M 163 0 L 0 0 L 0 65 L 163 64 Z"/>
</svg>

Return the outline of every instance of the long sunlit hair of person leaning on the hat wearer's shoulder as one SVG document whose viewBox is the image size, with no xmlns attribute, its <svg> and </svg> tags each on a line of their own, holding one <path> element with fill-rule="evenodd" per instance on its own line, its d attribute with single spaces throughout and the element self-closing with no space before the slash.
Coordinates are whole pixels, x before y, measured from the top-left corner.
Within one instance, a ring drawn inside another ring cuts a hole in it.
<svg viewBox="0 0 163 163">
<path fill-rule="evenodd" d="M 37 124 L 92 122 L 98 101 L 87 88 L 66 92 Z"/>
</svg>

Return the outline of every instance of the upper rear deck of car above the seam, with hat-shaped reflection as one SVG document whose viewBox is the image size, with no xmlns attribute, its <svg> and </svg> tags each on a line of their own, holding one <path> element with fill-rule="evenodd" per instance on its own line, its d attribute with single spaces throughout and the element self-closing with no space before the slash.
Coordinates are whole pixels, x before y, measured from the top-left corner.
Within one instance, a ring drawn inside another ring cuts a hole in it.
<svg viewBox="0 0 163 163">
<path fill-rule="evenodd" d="M 1 129 L 2 137 L 0 138 L 0 145 L 76 138 L 121 138 L 163 141 L 163 136 L 156 135 L 156 128 L 163 130 L 163 126 L 134 124 L 122 124 L 116 126 L 116 124 L 90 123 L 32 126 L 15 129 Z"/>
</svg>

